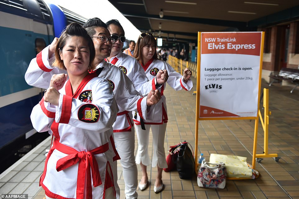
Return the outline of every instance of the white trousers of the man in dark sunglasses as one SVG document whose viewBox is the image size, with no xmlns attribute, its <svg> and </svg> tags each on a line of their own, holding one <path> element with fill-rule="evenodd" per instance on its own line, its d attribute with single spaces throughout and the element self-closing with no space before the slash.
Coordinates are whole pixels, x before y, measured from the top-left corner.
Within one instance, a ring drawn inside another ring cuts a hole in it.
<svg viewBox="0 0 299 199">
<path fill-rule="evenodd" d="M 116 150 L 121 158 L 122 174 L 125 182 L 126 199 L 135 199 L 138 197 L 136 192 L 137 166 L 135 163 L 135 130 L 131 128 L 131 132 L 114 133 L 114 141 Z"/>
</svg>

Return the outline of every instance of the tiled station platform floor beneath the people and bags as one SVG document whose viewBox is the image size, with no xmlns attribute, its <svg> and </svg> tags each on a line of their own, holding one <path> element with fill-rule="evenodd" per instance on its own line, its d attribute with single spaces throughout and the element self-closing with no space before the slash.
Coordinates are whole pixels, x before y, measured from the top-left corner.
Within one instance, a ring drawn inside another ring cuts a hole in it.
<svg viewBox="0 0 299 199">
<path fill-rule="evenodd" d="M 165 153 L 169 146 L 180 141 L 188 141 L 195 146 L 195 96 L 196 80 L 190 92 L 174 91 L 167 86 L 164 95 L 167 99 L 168 124 L 165 137 Z M 262 88 L 269 87 L 262 82 Z M 150 186 L 145 191 L 138 190 L 138 198 L 163 199 L 264 199 L 299 198 L 299 90 L 290 93 L 291 87 L 274 83 L 269 87 L 269 153 L 277 153 L 281 159 L 276 162 L 265 158 L 256 162 L 260 177 L 253 180 L 227 180 L 224 189 L 200 188 L 196 176 L 191 180 L 182 180 L 177 171 L 164 172 L 165 189 L 159 194 L 153 191 L 156 168 L 148 168 Z M 262 107 L 262 104 L 261 106 Z M 200 121 L 198 150 L 209 160 L 211 153 L 240 155 L 252 163 L 254 121 L 219 120 Z M 259 124 L 257 153 L 263 153 L 264 134 Z M 137 137 L 136 147 L 137 149 Z M 151 154 L 150 146 L 149 153 Z M 39 177 L 44 169 L 45 149 L 49 149 L 51 137 L 27 153 L 19 161 L 0 175 L 0 194 L 28 194 L 29 199 L 45 197 L 38 186 Z M 124 195 L 122 168 L 118 163 L 118 184 L 121 199 Z M 138 167 L 139 180 L 141 169 Z"/>
</svg>

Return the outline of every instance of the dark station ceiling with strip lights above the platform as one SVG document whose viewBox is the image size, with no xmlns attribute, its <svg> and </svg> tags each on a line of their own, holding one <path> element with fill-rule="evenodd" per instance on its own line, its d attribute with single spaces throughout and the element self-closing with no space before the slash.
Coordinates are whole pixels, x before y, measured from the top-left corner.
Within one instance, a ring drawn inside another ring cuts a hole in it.
<svg viewBox="0 0 299 199">
<path fill-rule="evenodd" d="M 299 20 L 298 0 L 109 0 L 141 32 L 196 43 L 197 32 L 255 31 Z M 159 12 L 163 12 L 160 18 Z M 161 24 L 161 29 L 159 25 Z"/>
</svg>

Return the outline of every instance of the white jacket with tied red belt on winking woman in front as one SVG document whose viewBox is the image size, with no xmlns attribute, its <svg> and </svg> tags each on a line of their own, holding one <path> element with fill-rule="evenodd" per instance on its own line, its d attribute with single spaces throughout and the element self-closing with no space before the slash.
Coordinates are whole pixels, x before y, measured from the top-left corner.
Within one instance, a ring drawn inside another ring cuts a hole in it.
<svg viewBox="0 0 299 199">
<path fill-rule="evenodd" d="M 51 128 L 55 137 L 40 186 L 51 198 L 102 199 L 110 187 L 115 196 L 110 165 L 119 156 L 111 134 L 118 108 L 108 81 L 87 74 L 74 94 L 69 80 L 59 92 L 58 106 L 42 99 L 30 116 L 38 132 Z"/>
</svg>

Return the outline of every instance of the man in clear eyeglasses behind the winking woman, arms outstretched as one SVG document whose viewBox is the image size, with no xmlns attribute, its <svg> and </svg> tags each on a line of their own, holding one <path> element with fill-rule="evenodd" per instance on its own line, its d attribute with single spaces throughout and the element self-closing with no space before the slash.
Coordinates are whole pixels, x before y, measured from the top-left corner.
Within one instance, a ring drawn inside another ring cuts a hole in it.
<svg viewBox="0 0 299 199">
<path fill-rule="evenodd" d="M 122 112 L 131 113 L 131 111 L 138 111 L 140 117 L 147 117 L 147 109 L 149 106 L 156 104 L 161 98 L 158 90 L 151 90 L 147 97 L 140 96 L 139 92 L 135 90 L 134 85 L 130 79 L 116 66 L 104 59 L 110 56 L 112 43 L 115 39 L 111 38 L 107 29 L 107 25 L 99 18 L 89 19 L 83 27 L 88 34 L 92 37 L 95 47 L 95 59 L 93 64 L 96 65 L 96 72 L 99 77 L 108 79 L 110 86 L 113 90 L 119 113 L 117 113 L 117 120 L 113 124 L 113 129 L 122 130 L 127 126 L 123 122 Z M 30 86 L 47 89 L 50 84 L 52 75 L 56 77 L 56 83 L 60 84 L 66 79 L 66 71 L 59 70 L 52 67 L 51 63 L 54 57 L 54 49 L 57 44 L 58 38 L 55 38 L 51 45 L 42 50 L 36 58 L 32 59 L 25 74 L 25 80 Z M 56 75 L 58 74 L 58 75 Z M 125 114 L 126 115 L 126 114 Z M 132 117 L 132 115 L 131 115 Z M 127 120 L 125 118 L 125 120 Z M 131 125 L 131 124 L 130 124 Z M 117 199 L 119 198 L 119 188 L 117 186 L 117 168 L 116 161 L 119 160 L 118 153 L 114 147 L 113 136 L 107 137 L 109 142 L 109 150 L 113 150 L 115 156 L 113 157 L 114 163 L 111 165 L 113 169 L 113 178 L 117 192 Z M 110 171 L 108 171 L 110 173 Z M 109 184 L 108 184 L 109 187 Z"/>
</svg>

